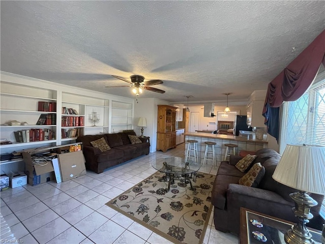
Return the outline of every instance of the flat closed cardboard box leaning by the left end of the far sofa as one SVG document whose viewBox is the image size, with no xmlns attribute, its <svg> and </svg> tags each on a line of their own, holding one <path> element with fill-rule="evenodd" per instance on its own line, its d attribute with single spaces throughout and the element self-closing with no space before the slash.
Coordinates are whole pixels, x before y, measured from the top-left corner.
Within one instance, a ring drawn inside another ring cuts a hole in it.
<svg viewBox="0 0 325 244">
<path fill-rule="evenodd" d="M 82 151 L 59 154 L 58 160 L 62 181 L 86 175 L 85 158 Z"/>
</svg>

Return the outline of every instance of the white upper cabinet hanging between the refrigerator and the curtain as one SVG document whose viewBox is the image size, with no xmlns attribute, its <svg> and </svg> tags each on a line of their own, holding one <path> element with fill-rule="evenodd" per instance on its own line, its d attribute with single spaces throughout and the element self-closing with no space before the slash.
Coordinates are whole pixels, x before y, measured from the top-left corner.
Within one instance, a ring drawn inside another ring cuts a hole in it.
<svg viewBox="0 0 325 244">
<path fill-rule="evenodd" d="M 264 116 L 262 115 L 264 108 L 266 90 L 255 90 L 247 105 L 247 125 L 251 127 L 265 127 Z"/>
</svg>

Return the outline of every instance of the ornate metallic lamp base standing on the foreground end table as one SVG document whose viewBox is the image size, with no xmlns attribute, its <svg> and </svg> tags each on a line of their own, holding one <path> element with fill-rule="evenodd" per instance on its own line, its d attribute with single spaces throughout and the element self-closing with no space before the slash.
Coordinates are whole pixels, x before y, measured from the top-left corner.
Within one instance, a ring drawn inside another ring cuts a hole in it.
<svg viewBox="0 0 325 244">
<path fill-rule="evenodd" d="M 310 208 L 316 206 L 317 202 L 306 192 L 291 193 L 290 197 L 295 201 L 293 211 L 298 218 L 298 223 L 284 235 L 284 240 L 288 244 L 314 244 L 312 235 L 306 227 L 306 223 L 313 218 Z"/>
</svg>

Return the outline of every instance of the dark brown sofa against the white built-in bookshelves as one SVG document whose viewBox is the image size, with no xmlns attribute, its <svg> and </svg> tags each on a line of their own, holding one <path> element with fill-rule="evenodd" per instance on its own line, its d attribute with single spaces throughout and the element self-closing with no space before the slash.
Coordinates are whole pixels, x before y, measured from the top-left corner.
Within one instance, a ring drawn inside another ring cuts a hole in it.
<svg viewBox="0 0 325 244">
<path fill-rule="evenodd" d="M 76 141 L 83 144 L 86 168 L 96 173 L 102 173 L 104 169 L 140 157 L 141 155 L 149 154 L 150 143 L 147 142 L 147 138 L 139 137 L 142 143 L 131 144 L 127 135 L 136 135 L 136 133 L 128 131 L 114 134 L 79 136 Z M 110 150 L 102 152 L 99 148 L 91 145 L 91 141 L 102 137 L 111 147 Z"/>
</svg>

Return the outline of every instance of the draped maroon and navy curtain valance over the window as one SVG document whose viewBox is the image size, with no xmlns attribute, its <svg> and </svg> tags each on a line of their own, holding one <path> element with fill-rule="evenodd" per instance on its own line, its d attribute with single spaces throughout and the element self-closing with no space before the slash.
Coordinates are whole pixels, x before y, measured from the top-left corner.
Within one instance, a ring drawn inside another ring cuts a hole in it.
<svg viewBox="0 0 325 244">
<path fill-rule="evenodd" d="M 275 110 L 274 108 L 280 107 L 283 101 L 296 101 L 300 98 L 314 80 L 321 63 L 325 66 L 325 31 L 320 33 L 293 62 L 269 83 L 263 116 L 269 134 L 277 140 L 279 115 L 276 115 L 275 111 L 279 113 L 279 109 Z"/>
</svg>

